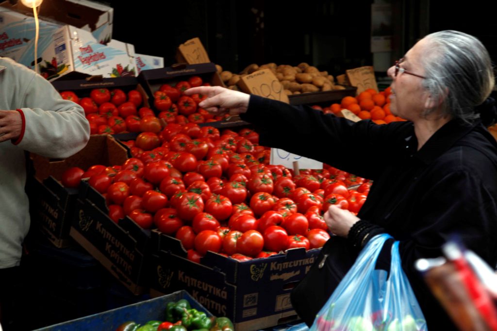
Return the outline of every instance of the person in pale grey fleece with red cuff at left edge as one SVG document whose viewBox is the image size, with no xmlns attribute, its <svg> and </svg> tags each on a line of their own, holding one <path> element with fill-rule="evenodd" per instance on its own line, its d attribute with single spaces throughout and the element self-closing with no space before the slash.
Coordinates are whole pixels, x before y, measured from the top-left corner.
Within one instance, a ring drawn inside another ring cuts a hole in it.
<svg viewBox="0 0 497 331">
<path fill-rule="evenodd" d="M 22 243 L 29 230 L 26 152 L 50 158 L 74 155 L 89 139 L 78 104 L 64 100 L 42 76 L 0 58 L 0 321 L 11 326 Z"/>
</svg>

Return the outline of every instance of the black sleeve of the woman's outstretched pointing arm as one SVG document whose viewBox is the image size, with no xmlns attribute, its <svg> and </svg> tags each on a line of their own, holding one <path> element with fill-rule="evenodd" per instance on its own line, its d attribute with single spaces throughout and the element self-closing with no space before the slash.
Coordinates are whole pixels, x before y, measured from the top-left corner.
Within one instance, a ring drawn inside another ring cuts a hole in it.
<svg viewBox="0 0 497 331">
<path fill-rule="evenodd" d="M 411 126 L 408 122 L 381 126 L 371 121 L 354 123 L 308 106 L 255 95 L 250 96 L 248 111 L 240 117 L 254 125 L 262 145 L 373 180 L 391 162 L 393 146 Z"/>
</svg>

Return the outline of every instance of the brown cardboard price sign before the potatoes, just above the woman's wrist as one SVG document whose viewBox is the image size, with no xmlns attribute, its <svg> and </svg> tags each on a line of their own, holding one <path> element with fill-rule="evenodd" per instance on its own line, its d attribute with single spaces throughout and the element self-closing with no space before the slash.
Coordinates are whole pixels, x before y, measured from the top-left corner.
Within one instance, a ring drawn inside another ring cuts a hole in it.
<svg viewBox="0 0 497 331">
<path fill-rule="evenodd" d="M 246 93 L 286 103 L 290 102 L 288 95 L 283 92 L 283 86 L 270 69 L 257 70 L 246 75 L 237 84 Z"/>
</svg>

